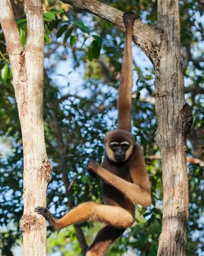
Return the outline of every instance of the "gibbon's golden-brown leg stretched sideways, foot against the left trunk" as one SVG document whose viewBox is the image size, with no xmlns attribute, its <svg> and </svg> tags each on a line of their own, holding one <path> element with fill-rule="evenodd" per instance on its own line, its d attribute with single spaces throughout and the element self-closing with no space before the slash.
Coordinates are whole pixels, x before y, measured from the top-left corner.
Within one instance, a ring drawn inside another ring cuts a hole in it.
<svg viewBox="0 0 204 256">
<path fill-rule="evenodd" d="M 38 206 L 34 211 L 44 216 L 56 230 L 83 221 L 99 221 L 117 228 L 128 228 L 133 225 L 134 221 L 131 213 L 122 207 L 94 202 L 78 205 L 59 220 L 54 220 L 52 214 L 45 207 Z"/>
</svg>

